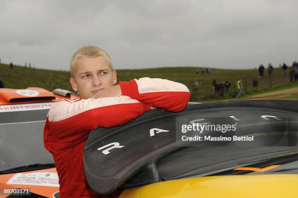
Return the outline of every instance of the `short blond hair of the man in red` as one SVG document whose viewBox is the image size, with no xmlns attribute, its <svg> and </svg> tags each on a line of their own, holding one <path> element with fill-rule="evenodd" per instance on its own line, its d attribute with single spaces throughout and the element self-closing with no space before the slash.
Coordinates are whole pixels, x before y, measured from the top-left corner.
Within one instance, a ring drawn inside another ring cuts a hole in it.
<svg viewBox="0 0 298 198">
<path fill-rule="evenodd" d="M 78 49 L 75 52 L 75 54 L 72 56 L 71 61 L 70 61 L 71 76 L 74 77 L 75 64 L 76 64 L 76 61 L 78 58 L 81 58 L 81 57 L 96 58 L 98 56 L 105 56 L 107 58 L 107 60 L 109 61 L 111 70 L 113 71 L 112 59 L 111 59 L 110 55 L 103 49 L 100 49 L 99 47 L 95 47 L 93 45 L 87 45 L 87 46 L 84 46 L 84 47 Z"/>
</svg>

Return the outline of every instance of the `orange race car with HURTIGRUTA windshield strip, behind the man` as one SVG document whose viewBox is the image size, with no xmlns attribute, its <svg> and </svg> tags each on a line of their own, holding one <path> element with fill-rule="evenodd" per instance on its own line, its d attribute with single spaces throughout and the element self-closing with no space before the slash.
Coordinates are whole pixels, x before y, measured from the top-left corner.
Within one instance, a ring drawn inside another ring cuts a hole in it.
<svg viewBox="0 0 298 198">
<path fill-rule="evenodd" d="M 42 131 L 56 101 L 77 97 L 61 89 L 0 89 L 0 198 L 58 197 L 58 176 Z"/>
</svg>

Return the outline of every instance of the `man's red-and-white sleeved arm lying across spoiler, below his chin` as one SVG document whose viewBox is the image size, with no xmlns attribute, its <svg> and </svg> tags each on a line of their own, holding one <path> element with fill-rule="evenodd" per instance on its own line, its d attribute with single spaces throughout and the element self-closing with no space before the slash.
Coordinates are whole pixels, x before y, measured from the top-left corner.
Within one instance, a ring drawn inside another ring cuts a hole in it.
<svg viewBox="0 0 298 198">
<path fill-rule="evenodd" d="M 128 96 L 63 100 L 50 109 L 47 123 L 65 148 L 86 140 L 92 129 L 122 125 L 149 110 L 149 105 Z"/>
</svg>

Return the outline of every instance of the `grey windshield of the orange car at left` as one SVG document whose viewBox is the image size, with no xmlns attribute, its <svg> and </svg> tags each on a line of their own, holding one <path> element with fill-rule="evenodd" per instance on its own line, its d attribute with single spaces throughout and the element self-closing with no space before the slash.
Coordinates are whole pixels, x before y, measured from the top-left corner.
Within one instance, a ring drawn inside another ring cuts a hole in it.
<svg viewBox="0 0 298 198">
<path fill-rule="evenodd" d="M 49 109 L 0 112 L 0 171 L 30 164 L 54 163 L 43 146 Z"/>
</svg>

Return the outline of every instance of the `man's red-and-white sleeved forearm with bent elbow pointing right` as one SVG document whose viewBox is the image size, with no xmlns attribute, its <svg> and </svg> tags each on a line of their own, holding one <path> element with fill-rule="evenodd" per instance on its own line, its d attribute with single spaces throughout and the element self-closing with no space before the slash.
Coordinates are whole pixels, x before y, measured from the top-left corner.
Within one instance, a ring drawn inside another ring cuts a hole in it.
<svg viewBox="0 0 298 198">
<path fill-rule="evenodd" d="M 167 111 L 183 110 L 190 98 L 185 85 L 166 79 L 145 77 L 119 84 L 122 95 Z"/>
</svg>

